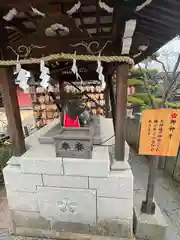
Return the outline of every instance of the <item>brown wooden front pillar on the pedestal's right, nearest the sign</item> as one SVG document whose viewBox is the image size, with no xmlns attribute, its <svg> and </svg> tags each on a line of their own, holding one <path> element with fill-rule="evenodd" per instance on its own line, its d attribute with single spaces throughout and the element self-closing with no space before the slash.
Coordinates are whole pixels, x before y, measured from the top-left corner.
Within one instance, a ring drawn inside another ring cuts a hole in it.
<svg viewBox="0 0 180 240">
<path fill-rule="evenodd" d="M 126 135 L 127 80 L 129 66 L 121 64 L 116 70 L 116 161 L 124 161 Z"/>
</svg>

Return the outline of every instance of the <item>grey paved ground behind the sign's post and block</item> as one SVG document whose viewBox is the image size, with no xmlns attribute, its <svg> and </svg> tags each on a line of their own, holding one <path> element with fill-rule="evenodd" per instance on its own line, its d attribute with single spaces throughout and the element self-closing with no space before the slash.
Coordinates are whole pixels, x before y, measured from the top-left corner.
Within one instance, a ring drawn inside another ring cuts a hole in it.
<svg viewBox="0 0 180 240">
<path fill-rule="evenodd" d="M 134 191 L 143 193 L 145 198 L 148 162 L 144 157 L 133 153 L 129 161 L 134 174 Z M 158 171 L 155 199 L 170 226 L 166 240 L 180 240 L 180 183 L 174 182 L 163 171 Z"/>
</svg>

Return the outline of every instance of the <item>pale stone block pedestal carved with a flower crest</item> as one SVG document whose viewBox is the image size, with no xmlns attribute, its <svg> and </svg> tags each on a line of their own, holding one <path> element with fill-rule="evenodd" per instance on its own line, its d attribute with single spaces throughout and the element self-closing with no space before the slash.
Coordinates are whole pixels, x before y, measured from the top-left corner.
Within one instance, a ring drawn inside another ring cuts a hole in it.
<svg viewBox="0 0 180 240">
<path fill-rule="evenodd" d="M 87 234 L 131 239 L 133 175 L 127 161 L 121 166 L 110 161 L 109 147 L 100 145 L 93 146 L 91 158 L 56 157 L 53 143 L 39 143 L 55 125 L 28 137 L 27 152 L 12 157 L 4 168 L 11 232 L 56 239 L 84 239 Z"/>
</svg>

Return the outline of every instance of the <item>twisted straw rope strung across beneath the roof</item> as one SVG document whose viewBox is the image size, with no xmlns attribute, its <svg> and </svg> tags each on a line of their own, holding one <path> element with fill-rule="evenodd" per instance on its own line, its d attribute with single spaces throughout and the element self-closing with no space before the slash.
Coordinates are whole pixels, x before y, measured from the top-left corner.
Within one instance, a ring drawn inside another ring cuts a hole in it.
<svg viewBox="0 0 180 240">
<path fill-rule="evenodd" d="M 69 53 L 58 53 L 52 54 L 42 58 L 29 58 L 29 59 L 21 59 L 19 61 L 16 60 L 4 60 L 0 61 L 0 66 L 15 66 L 17 63 L 22 65 L 26 64 L 39 64 L 41 60 L 45 62 L 49 61 L 57 61 L 57 60 L 81 60 L 81 61 L 102 61 L 102 62 L 121 62 L 127 63 L 129 65 L 134 65 L 134 60 L 130 57 L 123 57 L 123 56 L 93 56 L 93 55 L 76 55 L 76 54 L 69 54 Z"/>
</svg>

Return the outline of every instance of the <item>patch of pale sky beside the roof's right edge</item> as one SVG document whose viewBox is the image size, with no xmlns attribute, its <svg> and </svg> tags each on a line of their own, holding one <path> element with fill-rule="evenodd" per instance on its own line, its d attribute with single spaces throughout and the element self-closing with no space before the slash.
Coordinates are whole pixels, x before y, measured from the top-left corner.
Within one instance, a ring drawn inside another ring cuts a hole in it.
<svg viewBox="0 0 180 240">
<path fill-rule="evenodd" d="M 166 69 L 171 72 L 173 70 L 173 66 L 177 60 L 178 54 L 180 53 L 180 39 L 175 38 L 171 40 L 169 43 L 164 45 L 161 49 L 159 49 L 160 56 L 158 57 L 165 66 Z M 148 66 L 149 69 L 158 69 L 159 71 L 163 71 L 161 64 L 153 61 Z M 180 70 L 180 66 L 179 66 Z"/>
</svg>

